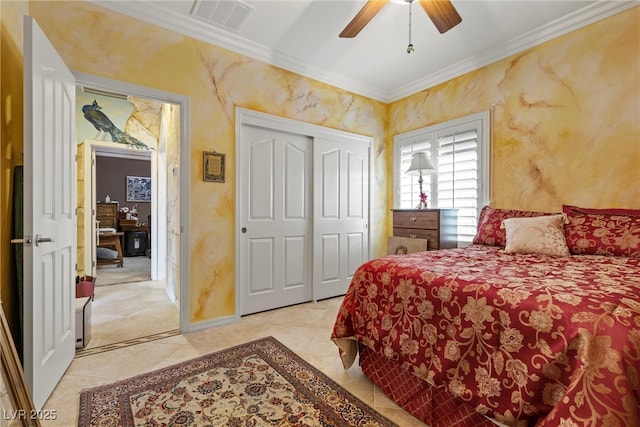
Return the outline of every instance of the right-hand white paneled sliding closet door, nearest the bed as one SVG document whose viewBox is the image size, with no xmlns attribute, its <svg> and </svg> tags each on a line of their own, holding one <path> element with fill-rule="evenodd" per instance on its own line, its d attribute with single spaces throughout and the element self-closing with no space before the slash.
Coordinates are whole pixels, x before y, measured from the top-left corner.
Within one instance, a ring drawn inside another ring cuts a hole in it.
<svg viewBox="0 0 640 427">
<path fill-rule="evenodd" d="M 369 259 L 369 144 L 313 143 L 313 299 L 346 293 Z"/>
</svg>

